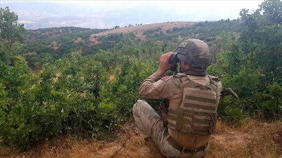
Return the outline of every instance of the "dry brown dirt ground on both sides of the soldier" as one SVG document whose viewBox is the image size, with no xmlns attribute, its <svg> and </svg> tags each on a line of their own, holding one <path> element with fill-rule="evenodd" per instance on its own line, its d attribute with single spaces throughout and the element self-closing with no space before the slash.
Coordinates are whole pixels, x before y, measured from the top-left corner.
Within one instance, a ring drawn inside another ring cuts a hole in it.
<svg viewBox="0 0 282 158">
<path fill-rule="evenodd" d="M 112 142 L 62 136 L 25 152 L 0 147 L 0 157 L 139 157 L 151 158 L 149 148 L 139 136 L 134 123 L 125 124 L 118 139 Z M 282 124 L 248 121 L 230 127 L 218 121 L 216 134 L 211 136 L 212 157 L 282 158 Z"/>
</svg>

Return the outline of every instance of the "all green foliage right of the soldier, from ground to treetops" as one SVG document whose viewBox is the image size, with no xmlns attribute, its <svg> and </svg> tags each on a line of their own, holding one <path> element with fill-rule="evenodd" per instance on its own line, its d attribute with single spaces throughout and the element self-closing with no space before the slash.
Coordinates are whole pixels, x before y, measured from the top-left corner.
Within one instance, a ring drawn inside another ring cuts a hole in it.
<svg viewBox="0 0 282 158">
<path fill-rule="evenodd" d="M 281 114 L 282 3 L 265 1 L 259 7 L 253 14 L 242 10 L 239 36 L 225 34 L 225 38 L 217 40 L 223 51 L 217 63 L 207 69 L 240 98 L 221 99 L 219 114 L 229 122 L 245 114 L 262 114 L 268 119 Z"/>
</svg>

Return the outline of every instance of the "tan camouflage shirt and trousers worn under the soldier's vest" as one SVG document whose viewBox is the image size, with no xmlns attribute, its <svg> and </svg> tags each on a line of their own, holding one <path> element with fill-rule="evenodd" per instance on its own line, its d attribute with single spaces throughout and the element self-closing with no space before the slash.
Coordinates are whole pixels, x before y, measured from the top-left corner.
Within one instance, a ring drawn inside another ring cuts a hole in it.
<svg viewBox="0 0 282 158">
<path fill-rule="evenodd" d="M 205 76 L 188 77 L 200 84 L 209 83 L 209 78 Z M 174 76 L 166 76 L 161 78 L 157 73 L 152 74 L 144 80 L 139 88 L 139 94 L 152 99 L 169 99 L 170 104 L 179 104 L 182 101 L 182 84 L 180 80 Z M 222 87 L 218 87 L 218 91 L 222 91 Z M 218 93 L 220 94 L 220 93 Z M 220 97 L 219 97 L 220 98 Z M 166 128 L 162 117 L 145 101 L 137 100 L 133 106 L 133 115 L 138 126 L 140 135 L 145 138 L 152 137 L 159 150 L 166 157 L 203 157 L 209 148 L 208 139 L 210 134 L 197 135 L 192 133 L 184 133 L 178 130 Z M 182 152 L 174 148 L 168 141 L 167 132 L 181 146 L 199 147 L 205 145 L 204 150 L 192 152 Z"/>
</svg>

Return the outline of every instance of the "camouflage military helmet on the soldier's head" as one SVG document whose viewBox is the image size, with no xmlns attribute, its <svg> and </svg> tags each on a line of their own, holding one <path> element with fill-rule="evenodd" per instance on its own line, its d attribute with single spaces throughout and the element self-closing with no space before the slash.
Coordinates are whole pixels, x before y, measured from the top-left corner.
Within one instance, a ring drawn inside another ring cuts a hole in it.
<svg viewBox="0 0 282 158">
<path fill-rule="evenodd" d="M 184 60 L 190 67 L 206 68 L 210 65 L 209 50 L 206 43 L 198 39 L 189 39 L 176 48 L 177 58 Z"/>
</svg>

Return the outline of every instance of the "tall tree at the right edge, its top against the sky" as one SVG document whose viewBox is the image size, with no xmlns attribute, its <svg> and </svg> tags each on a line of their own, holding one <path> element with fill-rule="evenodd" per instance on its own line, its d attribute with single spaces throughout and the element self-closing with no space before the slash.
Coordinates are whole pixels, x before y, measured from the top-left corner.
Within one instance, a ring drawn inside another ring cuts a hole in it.
<svg viewBox="0 0 282 158">
<path fill-rule="evenodd" d="M 266 0 L 259 7 L 253 14 L 240 13 L 245 65 L 262 71 L 265 84 L 282 82 L 282 2 Z"/>
</svg>

